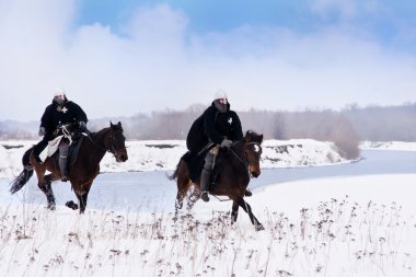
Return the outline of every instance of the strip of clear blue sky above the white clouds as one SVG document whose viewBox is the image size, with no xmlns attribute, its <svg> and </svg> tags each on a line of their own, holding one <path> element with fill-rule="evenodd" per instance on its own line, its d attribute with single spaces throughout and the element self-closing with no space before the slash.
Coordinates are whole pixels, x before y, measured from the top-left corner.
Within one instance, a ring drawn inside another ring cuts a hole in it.
<svg viewBox="0 0 416 277">
<path fill-rule="evenodd" d="M 243 25 L 255 25 L 287 27 L 307 34 L 332 25 L 349 24 L 371 33 L 380 44 L 416 51 L 414 34 L 407 37 L 408 41 L 397 37 L 407 27 L 416 26 L 414 0 L 90 0 L 79 2 L 74 23 L 79 26 L 100 22 L 119 33 L 119 25 L 128 20 L 132 10 L 161 3 L 184 12 L 189 20 L 188 32 L 193 33 L 229 32 Z"/>
</svg>

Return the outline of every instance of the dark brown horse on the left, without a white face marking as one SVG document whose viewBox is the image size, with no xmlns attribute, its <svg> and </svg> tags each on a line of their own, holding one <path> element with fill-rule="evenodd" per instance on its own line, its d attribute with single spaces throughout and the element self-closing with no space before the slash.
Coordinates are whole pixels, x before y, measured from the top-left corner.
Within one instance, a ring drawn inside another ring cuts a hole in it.
<svg viewBox="0 0 416 277">
<path fill-rule="evenodd" d="M 100 173 L 100 162 L 104 154 L 107 151 L 111 152 L 117 162 L 125 162 L 128 159 L 125 140 L 122 123 L 116 125 L 111 123 L 109 127 L 95 134 L 89 134 L 88 137 L 82 139 L 77 161 L 71 165 L 69 172 L 69 181 L 77 195 L 80 213 L 85 210 L 88 194 L 94 178 Z M 22 163 L 24 169 L 12 182 L 10 192 L 14 194 L 20 191 L 33 175 L 33 170 L 35 170 L 38 181 L 37 186 L 46 196 L 47 208 L 55 210 L 56 203 L 50 184 L 61 178 L 57 160 L 54 157 L 48 157 L 43 163 L 36 162 L 32 147 L 24 153 Z M 51 173 L 45 175 L 46 170 Z M 68 201 L 67 206 L 72 209 L 78 208 L 78 205 L 72 201 Z"/>
</svg>

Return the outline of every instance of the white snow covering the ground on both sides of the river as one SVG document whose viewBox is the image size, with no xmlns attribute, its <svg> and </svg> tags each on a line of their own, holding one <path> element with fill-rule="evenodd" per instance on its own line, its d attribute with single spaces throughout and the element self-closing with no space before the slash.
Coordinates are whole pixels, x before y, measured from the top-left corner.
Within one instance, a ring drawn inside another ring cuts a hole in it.
<svg viewBox="0 0 416 277">
<path fill-rule="evenodd" d="M 281 143 L 293 147 L 265 141 L 264 166 L 346 162 L 326 143 Z M 105 171 L 173 169 L 185 151 L 181 141 L 128 145 L 132 165 L 108 154 Z M 3 176 L 20 172 L 27 146 L 0 147 Z M 231 203 L 215 198 L 176 222 L 163 210 L 88 208 L 80 216 L 2 204 L 0 276 L 416 276 L 415 184 L 416 172 L 264 186 L 246 198 L 266 228 L 261 232 L 241 209 L 230 224 Z M 158 199 L 164 192 L 146 193 Z"/>
</svg>

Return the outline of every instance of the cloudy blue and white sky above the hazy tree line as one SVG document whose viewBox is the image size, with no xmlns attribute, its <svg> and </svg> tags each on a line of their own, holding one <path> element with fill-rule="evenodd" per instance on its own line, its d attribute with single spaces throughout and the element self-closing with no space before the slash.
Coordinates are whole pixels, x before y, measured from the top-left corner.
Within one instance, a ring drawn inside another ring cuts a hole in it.
<svg viewBox="0 0 416 277">
<path fill-rule="evenodd" d="M 412 0 L 0 0 L 0 120 L 416 102 Z"/>
</svg>

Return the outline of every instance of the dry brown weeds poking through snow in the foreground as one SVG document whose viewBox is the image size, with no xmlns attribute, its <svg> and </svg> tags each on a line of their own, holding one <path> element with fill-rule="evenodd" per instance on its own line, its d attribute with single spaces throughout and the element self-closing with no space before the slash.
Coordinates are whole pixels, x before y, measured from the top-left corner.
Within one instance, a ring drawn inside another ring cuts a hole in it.
<svg viewBox="0 0 416 277">
<path fill-rule="evenodd" d="M 330 199 L 266 231 L 230 215 L 0 207 L 1 276 L 415 276 L 416 221 L 392 203 Z"/>
</svg>

